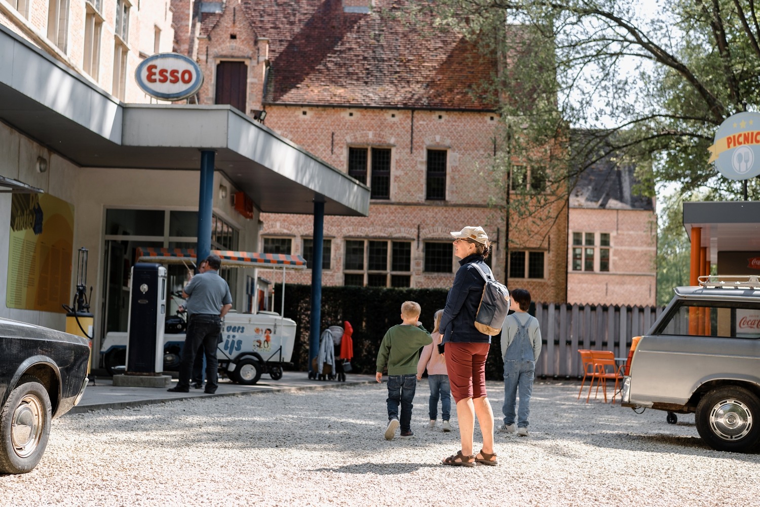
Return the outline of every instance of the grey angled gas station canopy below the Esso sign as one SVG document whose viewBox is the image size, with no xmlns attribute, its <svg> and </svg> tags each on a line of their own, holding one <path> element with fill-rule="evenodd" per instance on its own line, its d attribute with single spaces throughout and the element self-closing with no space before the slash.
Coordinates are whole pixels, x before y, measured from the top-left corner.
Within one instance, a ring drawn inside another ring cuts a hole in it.
<svg viewBox="0 0 760 507">
<path fill-rule="evenodd" d="M 2 25 L 0 122 L 78 166 L 200 170 L 214 151 L 261 211 L 369 214 L 366 185 L 232 106 L 122 103 Z"/>
</svg>

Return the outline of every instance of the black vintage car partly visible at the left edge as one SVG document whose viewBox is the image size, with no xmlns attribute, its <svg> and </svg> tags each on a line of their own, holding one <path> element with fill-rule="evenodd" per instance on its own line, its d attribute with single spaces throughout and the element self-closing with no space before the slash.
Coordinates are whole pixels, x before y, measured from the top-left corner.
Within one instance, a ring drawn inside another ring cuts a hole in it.
<svg viewBox="0 0 760 507">
<path fill-rule="evenodd" d="M 0 318 L 0 474 L 24 474 L 43 457 L 50 423 L 87 387 L 87 338 Z"/>
</svg>

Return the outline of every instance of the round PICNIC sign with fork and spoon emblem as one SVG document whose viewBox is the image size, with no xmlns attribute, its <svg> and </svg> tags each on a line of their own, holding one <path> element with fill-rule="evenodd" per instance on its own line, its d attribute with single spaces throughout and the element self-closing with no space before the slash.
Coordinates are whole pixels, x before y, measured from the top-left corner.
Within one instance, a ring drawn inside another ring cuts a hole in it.
<svg viewBox="0 0 760 507">
<path fill-rule="evenodd" d="M 760 112 L 738 112 L 729 116 L 715 132 L 708 147 L 709 162 L 728 179 L 750 179 L 760 175 Z"/>
</svg>

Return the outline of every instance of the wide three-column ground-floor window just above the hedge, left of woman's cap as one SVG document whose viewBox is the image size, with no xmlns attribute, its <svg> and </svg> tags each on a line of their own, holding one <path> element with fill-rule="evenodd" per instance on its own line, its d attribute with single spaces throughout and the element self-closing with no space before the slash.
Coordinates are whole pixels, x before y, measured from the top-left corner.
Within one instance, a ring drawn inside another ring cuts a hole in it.
<svg viewBox="0 0 760 507">
<path fill-rule="evenodd" d="M 393 239 L 346 241 L 344 284 L 410 287 L 412 243 Z"/>
</svg>

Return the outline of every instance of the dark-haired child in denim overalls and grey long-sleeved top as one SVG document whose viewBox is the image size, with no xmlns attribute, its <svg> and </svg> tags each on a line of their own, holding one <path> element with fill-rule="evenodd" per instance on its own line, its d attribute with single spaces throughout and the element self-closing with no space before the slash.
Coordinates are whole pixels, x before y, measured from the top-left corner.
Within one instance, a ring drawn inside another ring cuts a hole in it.
<svg viewBox="0 0 760 507">
<path fill-rule="evenodd" d="M 504 358 L 504 424 L 500 432 L 515 433 L 515 396 L 520 391 L 518 410 L 518 435 L 528 436 L 527 416 L 530 412 L 530 391 L 536 361 L 541 353 L 541 331 L 538 320 L 527 313 L 530 293 L 525 289 L 511 291 L 510 309 L 502 328 L 502 357 Z"/>
</svg>

